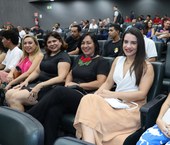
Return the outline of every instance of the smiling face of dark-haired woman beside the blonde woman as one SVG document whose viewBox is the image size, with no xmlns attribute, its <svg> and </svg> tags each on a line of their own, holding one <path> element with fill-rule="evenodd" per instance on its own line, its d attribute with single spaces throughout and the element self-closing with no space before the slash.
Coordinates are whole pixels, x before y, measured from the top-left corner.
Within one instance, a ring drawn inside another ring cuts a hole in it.
<svg viewBox="0 0 170 145">
<path fill-rule="evenodd" d="M 51 53 L 57 53 L 61 49 L 62 43 L 55 37 L 50 36 L 47 40 L 47 48 L 51 51 Z"/>
</svg>

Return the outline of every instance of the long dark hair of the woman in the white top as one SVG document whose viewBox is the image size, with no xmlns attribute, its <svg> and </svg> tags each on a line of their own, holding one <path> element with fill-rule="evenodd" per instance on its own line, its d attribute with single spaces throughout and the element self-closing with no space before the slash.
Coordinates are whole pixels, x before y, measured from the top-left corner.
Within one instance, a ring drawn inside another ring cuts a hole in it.
<svg viewBox="0 0 170 145">
<path fill-rule="evenodd" d="M 135 60 L 133 61 L 131 67 L 130 67 L 130 73 L 132 74 L 132 71 L 135 72 L 136 76 L 136 85 L 139 86 L 142 74 L 144 72 L 144 68 L 146 67 L 146 52 L 145 52 L 145 42 L 143 34 L 140 32 L 137 28 L 129 28 L 122 37 L 122 46 L 123 46 L 123 40 L 126 34 L 132 34 L 137 38 L 137 52 L 135 56 Z"/>
</svg>

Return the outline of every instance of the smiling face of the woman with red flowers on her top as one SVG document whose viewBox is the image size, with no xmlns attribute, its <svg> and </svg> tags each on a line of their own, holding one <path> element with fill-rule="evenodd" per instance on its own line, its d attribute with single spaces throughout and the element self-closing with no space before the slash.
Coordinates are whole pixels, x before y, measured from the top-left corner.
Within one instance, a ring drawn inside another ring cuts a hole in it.
<svg viewBox="0 0 170 145">
<path fill-rule="evenodd" d="M 92 40 L 92 38 L 87 35 L 82 43 L 81 43 L 81 50 L 83 52 L 84 55 L 86 56 L 93 56 L 95 53 L 95 44 Z"/>
</svg>

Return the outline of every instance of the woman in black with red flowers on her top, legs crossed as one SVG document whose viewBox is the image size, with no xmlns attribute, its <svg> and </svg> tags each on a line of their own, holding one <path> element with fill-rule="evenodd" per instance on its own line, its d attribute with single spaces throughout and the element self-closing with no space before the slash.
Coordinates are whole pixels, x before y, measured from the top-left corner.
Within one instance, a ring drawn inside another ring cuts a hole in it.
<svg viewBox="0 0 170 145">
<path fill-rule="evenodd" d="M 78 86 L 87 93 L 92 93 L 104 83 L 108 75 L 109 63 L 98 55 L 99 45 L 95 35 L 85 34 L 79 48 L 82 54 L 74 61 L 66 78 L 65 87 L 55 87 L 27 111 L 43 124 L 45 145 L 53 145 L 58 137 L 63 115 L 76 113 L 84 94 L 72 87 Z"/>
</svg>

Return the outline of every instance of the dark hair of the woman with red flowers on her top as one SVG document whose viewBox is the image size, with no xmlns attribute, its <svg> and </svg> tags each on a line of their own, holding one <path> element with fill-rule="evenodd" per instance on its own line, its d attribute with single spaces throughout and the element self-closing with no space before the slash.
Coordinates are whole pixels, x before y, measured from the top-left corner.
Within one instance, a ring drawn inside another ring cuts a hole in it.
<svg viewBox="0 0 170 145">
<path fill-rule="evenodd" d="M 86 36 L 90 36 L 91 37 L 91 39 L 93 40 L 93 43 L 94 43 L 94 46 L 95 46 L 95 52 L 94 52 L 94 54 L 95 55 L 97 55 L 97 54 L 99 54 L 99 43 L 98 43 L 98 40 L 97 40 L 97 37 L 96 37 L 96 35 L 95 34 L 93 34 L 93 33 L 85 33 L 85 34 L 83 34 L 82 36 L 81 36 L 81 39 L 80 39 L 80 41 L 79 41 L 79 44 L 78 44 L 78 48 L 80 48 L 80 54 L 82 53 L 82 50 L 81 50 L 81 43 L 82 43 L 82 41 L 84 40 L 84 38 L 86 37 Z"/>
</svg>

